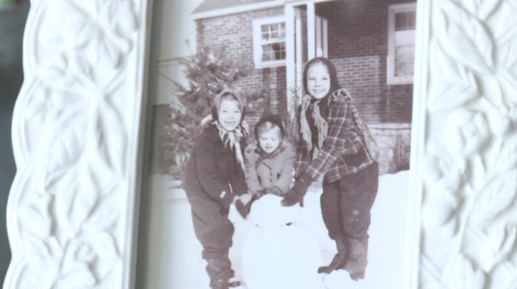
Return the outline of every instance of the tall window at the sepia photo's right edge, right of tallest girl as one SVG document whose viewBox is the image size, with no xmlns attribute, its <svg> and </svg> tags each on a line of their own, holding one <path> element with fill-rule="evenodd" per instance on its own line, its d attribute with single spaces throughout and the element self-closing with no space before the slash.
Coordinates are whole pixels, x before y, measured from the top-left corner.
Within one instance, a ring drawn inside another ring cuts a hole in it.
<svg viewBox="0 0 517 289">
<path fill-rule="evenodd" d="M 388 84 L 413 83 L 416 3 L 388 8 Z"/>
</svg>

